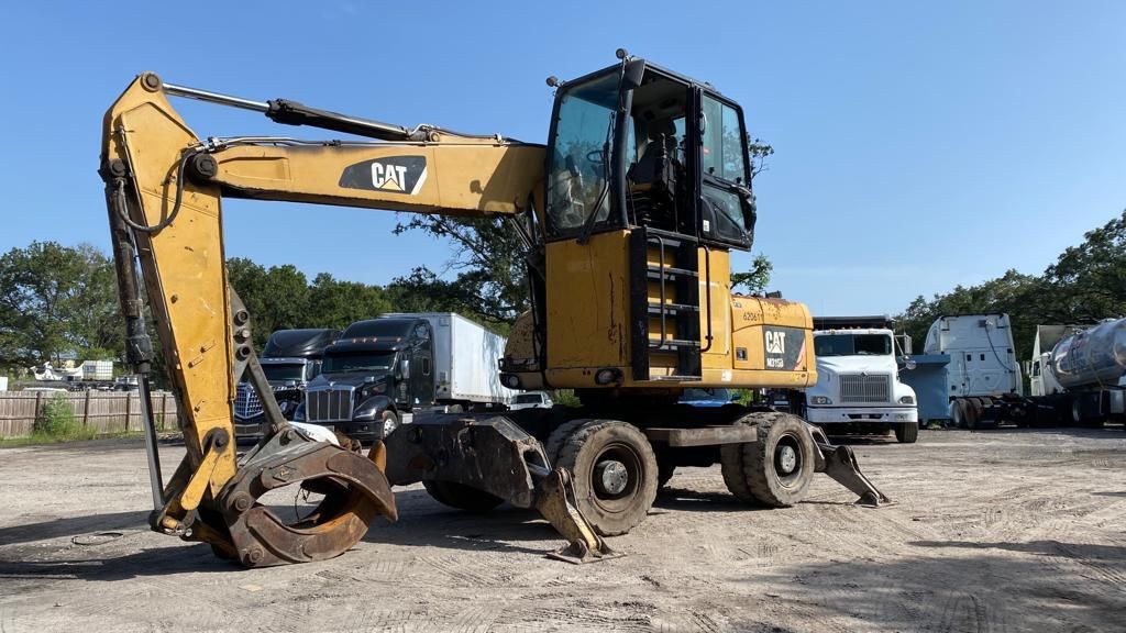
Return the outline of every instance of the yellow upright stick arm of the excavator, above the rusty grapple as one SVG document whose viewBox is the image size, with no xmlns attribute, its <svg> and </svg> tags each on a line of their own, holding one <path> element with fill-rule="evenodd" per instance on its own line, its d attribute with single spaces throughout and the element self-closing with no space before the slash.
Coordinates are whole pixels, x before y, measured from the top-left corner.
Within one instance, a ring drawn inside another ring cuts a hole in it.
<svg viewBox="0 0 1126 633">
<path fill-rule="evenodd" d="M 198 143 L 196 135 L 162 93 L 146 90 L 138 79 L 106 114 L 102 139 L 105 158 L 119 159 L 132 170 L 136 189 L 126 191 L 132 220 L 159 223 L 171 212 L 180 154 Z M 234 351 L 221 221 L 218 187 L 186 185 L 176 221 L 157 234 L 136 234 L 193 471 L 203 461 L 202 442 L 208 431 L 222 429 L 234 437 Z M 234 453 L 220 454 L 207 492 L 217 494 L 234 472 Z M 169 508 L 179 510 L 177 519 L 184 518 L 182 492 L 169 490 Z"/>
</svg>

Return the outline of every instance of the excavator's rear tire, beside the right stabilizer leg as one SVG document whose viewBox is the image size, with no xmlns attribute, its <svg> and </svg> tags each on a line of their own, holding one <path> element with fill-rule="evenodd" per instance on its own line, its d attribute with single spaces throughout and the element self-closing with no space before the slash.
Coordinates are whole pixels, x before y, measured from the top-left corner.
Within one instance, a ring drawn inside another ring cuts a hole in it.
<svg viewBox="0 0 1126 633">
<path fill-rule="evenodd" d="M 723 481 L 735 498 L 748 503 L 786 508 L 799 502 L 813 481 L 816 446 L 805 421 L 789 413 L 751 413 L 735 424 L 759 427 L 759 440 L 720 447 Z M 780 444 L 797 457 L 794 471 L 780 472 Z"/>
</svg>

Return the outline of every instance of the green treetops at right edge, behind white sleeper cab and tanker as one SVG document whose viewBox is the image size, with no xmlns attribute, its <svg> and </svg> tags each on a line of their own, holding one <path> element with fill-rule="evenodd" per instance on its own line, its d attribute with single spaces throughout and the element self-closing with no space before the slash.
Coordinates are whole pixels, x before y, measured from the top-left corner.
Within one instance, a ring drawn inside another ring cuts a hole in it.
<svg viewBox="0 0 1126 633">
<path fill-rule="evenodd" d="M 1126 315 L 1126 212 L 1083 238 L 1083 243 L 1066 249 L 1043 275 L 1008 270 L 929 301 L 919 296 L 899 315 L 899 326 L 911 335 L 915 351 L 921 351 L 927 330 L 939 316 L 1006 312 L 1017 355 L 1024 357 L 1038 324 L 1094 323 Z"/>
</svg>

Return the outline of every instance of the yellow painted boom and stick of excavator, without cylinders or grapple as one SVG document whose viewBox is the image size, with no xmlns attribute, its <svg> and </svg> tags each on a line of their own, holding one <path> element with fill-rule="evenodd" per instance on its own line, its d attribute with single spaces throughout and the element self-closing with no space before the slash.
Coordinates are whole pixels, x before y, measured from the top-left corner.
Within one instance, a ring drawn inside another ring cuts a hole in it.
<svg viewBox="0 0 1126 633">
<path fill-rule="evenodd" d="M 515 214 L 531 199 L 542 208 L 544 199 L 543 146 L 441 133 L 427 143 L 229 144 L 211 152 L 217 172 L 209 182 L 180 184 L 181 157 L 202 143 L 163 92 L 146 89 L 142 78 L 106 113 L 102 139 L 104 161 L 120 160 L 135 184 L 135 190 L 126 191 L 133 222 L 152 226 L 168 217 L 182 186 L 175 221 L 155 233 L 136 232 L 188 452 L 190 474 L 170 482 L 166 491 L 166 514 L 172 521 L 184 519 L 208 496 L 214 498 L 235 473 L 232 451 L 208 456 L 205 463 L 203 446 L 212 430 L 234 437 L 234 344 L 222 197 L 473 216 Z M 417 190 L 355 188 L 342 181 L 349 166 L 403 155 L 427 160 L 426 179 Z"/>
</svg>

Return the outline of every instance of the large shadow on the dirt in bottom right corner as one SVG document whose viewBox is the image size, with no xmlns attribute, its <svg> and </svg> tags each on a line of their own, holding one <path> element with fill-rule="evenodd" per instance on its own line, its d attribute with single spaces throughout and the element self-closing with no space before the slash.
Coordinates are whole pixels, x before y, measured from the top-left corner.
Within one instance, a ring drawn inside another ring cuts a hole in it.
<svg viewBox="0 0 1126 633">
<path fill-rule="evenodd" d="M 1058 541 L 920 541 L 895 561 L 786 565 L 766 581 L 767 606 L 802 609 L 824 630 L 1121 631 L 1126 547 Z M 761 583 L 729 578 L 733 583 Z M 785 606 L 784 606 L 785 605 Z M 754 630 L 759 610 L 729 614 Z M 745 618 L 745 619 L 744 619 Z M 762 628 L 769 631 L 770 628 Z"/>
</svg>

